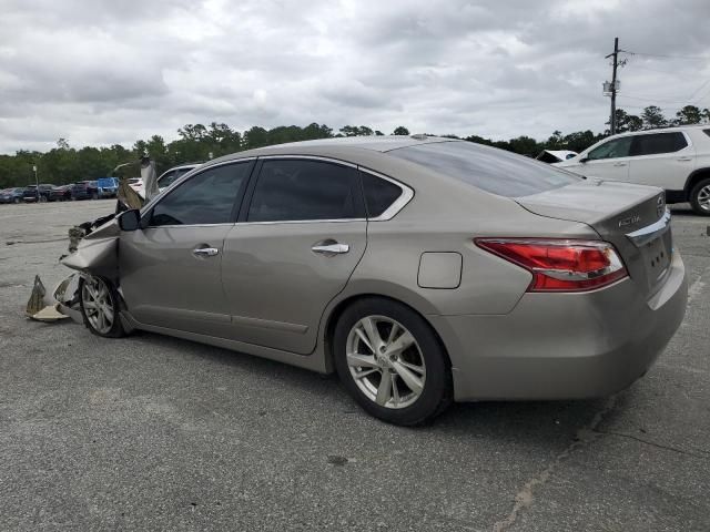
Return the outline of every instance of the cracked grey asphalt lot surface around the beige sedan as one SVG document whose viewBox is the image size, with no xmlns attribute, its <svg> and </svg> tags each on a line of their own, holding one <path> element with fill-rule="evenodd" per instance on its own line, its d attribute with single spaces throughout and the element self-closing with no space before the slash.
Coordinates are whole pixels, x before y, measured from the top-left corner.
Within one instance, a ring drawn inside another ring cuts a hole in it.
<svg viewBox="0 0 710 532">
<path fill-rule="evenodd" d="M 673 209 L 688 311 L 631 388 L 404 429 L 334 377 L 26 319 L 112 208 L 0 205 L 0 530 L 710 530 L 710 218 Z"/>
</svg>

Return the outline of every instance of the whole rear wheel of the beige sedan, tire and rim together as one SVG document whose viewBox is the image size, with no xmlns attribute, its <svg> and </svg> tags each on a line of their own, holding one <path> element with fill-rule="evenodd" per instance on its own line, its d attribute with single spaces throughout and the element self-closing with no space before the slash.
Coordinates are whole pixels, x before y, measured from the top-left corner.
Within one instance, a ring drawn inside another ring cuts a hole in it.
<svg viewBox="0 0 710 532">
<path fill-rule="evenodd" d="M 371 349 L 375 342 L 378 346 Z M 407 347 L 398 349 L 402 346 Z M 355 301 L 335 326 L 333 349 L 347 391 L 383 421 L 423 424 L 452 403 L 452 371 L 444 347 L 429 324 L 400 303 L 377 297 Z M 383 381 L 383 376 L 390 381 Z"/>
</svg>

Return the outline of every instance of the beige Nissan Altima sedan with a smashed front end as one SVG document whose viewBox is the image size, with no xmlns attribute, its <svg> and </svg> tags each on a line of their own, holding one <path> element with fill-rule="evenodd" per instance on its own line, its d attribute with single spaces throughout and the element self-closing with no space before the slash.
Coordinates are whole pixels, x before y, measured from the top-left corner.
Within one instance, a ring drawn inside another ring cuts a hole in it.
<svg viewBox="0 0 710 532">
<path fill-rule="evenodd" d="M 661 190 L 418 135 L 212 161 L 64 264 L 85 274 L 94 334 L 142 329 L 337 371 L 399 424 L 453 400 L 623 389 L 687 300 Z"/>
</svg>

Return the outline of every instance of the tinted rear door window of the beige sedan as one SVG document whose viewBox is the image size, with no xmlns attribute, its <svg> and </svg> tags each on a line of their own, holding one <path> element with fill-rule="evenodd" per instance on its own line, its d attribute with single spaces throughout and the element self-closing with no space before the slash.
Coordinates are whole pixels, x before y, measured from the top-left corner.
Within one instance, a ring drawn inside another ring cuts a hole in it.
<svg viewBox="0 0 710 532">
<path fill-rule="evenodd" d="M 254 187 L 247 222 L 363 217 L 357 171 L 307 160 L 267 160 Z"/>
</svg>

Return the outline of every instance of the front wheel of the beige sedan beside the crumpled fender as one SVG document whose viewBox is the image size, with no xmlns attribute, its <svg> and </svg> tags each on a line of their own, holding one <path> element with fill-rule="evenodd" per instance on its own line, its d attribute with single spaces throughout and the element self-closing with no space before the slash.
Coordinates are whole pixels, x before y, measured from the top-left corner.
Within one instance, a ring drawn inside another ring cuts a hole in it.
<svg viewBox="0 0 710 532">
<path fill-rule="evenodd" d="M 93 335 L 103 338 L 125 336 L 119 318 L 119 295 L 109 280 L 102 277 L 82 277 L 79 280 L 79 301 L 84 326 Z"/>
</svg>

